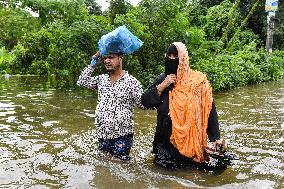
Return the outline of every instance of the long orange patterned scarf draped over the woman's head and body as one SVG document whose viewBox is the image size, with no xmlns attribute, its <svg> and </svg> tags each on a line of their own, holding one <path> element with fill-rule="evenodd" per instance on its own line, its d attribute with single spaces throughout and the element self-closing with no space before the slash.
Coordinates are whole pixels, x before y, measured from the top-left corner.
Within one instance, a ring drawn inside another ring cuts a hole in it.
<svg viewBox="0 0 284 189">
<path fill-rule="evenodd" d="M 171 143 L 182 155 L 204 162 L 212 88 L 205 74 L 190 69 L 186 46 L 181 42 L 173 44 L 178 50 L 179 66 L 175 87 L 169 93 Z"/>
</svg>

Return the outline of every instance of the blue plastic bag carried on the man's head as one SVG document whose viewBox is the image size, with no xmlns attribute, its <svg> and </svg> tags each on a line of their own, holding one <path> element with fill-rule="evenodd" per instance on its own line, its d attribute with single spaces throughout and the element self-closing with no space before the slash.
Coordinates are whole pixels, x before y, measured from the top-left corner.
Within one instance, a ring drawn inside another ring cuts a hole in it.
<svg viewBox="0 0 284 189">
<path fill-rule="evenodd" d="M 143 42 L 123 25 L 103 35 L 98 45 L 102 56 L 109 53 L 122 53 L 127 55 L 138 50 L 143 45 Z"/>
</svg>

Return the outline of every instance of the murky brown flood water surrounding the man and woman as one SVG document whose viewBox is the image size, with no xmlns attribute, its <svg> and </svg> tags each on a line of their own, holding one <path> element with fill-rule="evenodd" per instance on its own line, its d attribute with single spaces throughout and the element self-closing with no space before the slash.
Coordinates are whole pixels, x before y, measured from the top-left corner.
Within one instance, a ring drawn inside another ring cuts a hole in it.
<svg viewBox="0 0 284 189">
<path fill-rule="evenodd" d="M 284 81 L 215 94 L 239 160 L 219 172 L 152 164 L 153 110 L 135 110 L 129 163 L 97 151 L 96 95 L 38 77 L 0 76 L 0 188 L 284 188 Z"/>
</svg>

